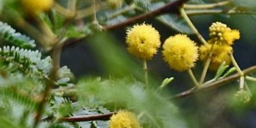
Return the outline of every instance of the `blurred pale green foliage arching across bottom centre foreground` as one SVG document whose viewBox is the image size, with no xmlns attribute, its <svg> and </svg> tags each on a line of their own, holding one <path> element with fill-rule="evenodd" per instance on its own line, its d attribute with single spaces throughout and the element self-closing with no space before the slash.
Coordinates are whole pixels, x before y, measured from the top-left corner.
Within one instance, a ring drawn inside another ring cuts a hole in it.
<svg viewBox="0 0 256 128">
<path fill-rule="evenodd" d="M 168 98 L 154 89 L 143 87 L 142 83 L 128 79 L 84 79 L 78 84 L 78 93 L 84 106 L 106 106 L 110 110 L 141 113 L 143 127 L 186 127 Z"/>
</svg>

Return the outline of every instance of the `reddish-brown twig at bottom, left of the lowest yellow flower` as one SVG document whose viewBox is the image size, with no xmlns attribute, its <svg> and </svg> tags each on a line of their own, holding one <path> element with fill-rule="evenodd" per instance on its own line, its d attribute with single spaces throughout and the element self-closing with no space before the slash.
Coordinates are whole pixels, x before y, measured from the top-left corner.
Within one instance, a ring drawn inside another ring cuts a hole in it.
<svg viewBox="0 0 256 128">
<path fill-rule="evenodd" d="M 104 113 L 104 114 L 99 114 L 99 115 L 86 115 L 86 116 L 79 116 L 79 117 L 63 117 L 62 119 L 60 119 L 60 121 L 67 121 L 67 122 L 96 121 L 96 120 L 107 121 L 110 119 L 110 117 L 113 114 L 115 114 L 115 113 L 112 112 L 112 113 Z"/>
</svg>

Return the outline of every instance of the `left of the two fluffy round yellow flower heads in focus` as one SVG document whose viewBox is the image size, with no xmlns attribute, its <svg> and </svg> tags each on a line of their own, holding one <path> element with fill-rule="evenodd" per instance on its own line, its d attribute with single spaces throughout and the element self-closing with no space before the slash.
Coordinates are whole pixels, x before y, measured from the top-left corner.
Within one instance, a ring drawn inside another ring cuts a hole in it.
<svg viewBox="0 0 256 128">
<path fill-rule="evenodd" d="M 131 54 L 141 59 L 151 59 L 160 47 L 160 34 L 151 25 L 135 25 L 127 30 L 126 43 Z"/>
</svg>

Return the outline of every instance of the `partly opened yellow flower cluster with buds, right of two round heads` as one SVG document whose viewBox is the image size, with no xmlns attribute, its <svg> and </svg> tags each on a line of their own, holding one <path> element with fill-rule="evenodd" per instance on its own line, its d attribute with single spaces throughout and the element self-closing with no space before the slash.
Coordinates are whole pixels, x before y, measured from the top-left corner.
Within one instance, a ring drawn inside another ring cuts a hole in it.
<svg viewBox="0 0 256 128">
<path fill-rule="evenodd" d="M 209 27 L 209 36 L 208 44 L 200 47 L 200 59 L 204 62 L 207 61 L 208 55 L 212 51 L 210 69 L 216 71 L 223 61 L 226 61 L 226 65 L 230 65 L 232 45 L 235 40 L 240 38 L 240 32 L 232 30 L 221 22 L 214 22 Z"/>
</svg>

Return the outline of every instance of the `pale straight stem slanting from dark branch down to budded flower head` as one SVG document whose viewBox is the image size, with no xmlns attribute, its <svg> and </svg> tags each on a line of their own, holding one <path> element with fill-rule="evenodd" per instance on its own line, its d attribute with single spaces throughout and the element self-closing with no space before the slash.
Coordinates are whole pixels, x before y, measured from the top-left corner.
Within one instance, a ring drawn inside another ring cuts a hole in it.
<svg viewBox="0 0 256 128">
<path fill-rule="evenodd" d="M 189 19 L 189 16 L 187 16 L 187 13 L 185 12 L 185 10 L 182 7 L 180 9 L 180 13 L 181 13 L 181 16 L 184 18 L 184 20 L 189 25 L 189 27 L 191 28 L 191 30 L 197 35 L 197 38 L 199 38 L 199 40 L 203 44 L 207 44 L 207 41 L 205 40 L 205 38 L 203 38 L 203 36 L 198 32 L 197 28 L 195 28 L 193 22 L 191 22 L 191 20 Z"/>
</svg>

